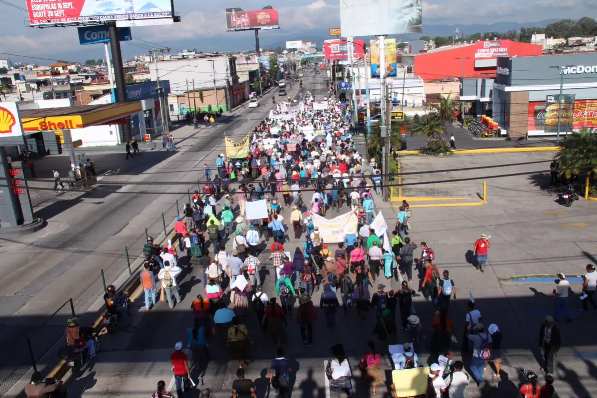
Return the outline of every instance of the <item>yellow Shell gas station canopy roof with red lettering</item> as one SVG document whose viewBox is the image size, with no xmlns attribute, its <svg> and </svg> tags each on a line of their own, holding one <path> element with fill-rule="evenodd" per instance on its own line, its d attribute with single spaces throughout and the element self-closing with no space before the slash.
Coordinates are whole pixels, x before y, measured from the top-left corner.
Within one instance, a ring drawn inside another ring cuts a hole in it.
<svg viewBox="0 0 597 398">
<path fill-rule="evenodd" d="M 141 112 L 141 103 L 127 102 L 107 105 L 85 105 L 20 111 L 23 131 L 53 131 L 85 128 L 97 125 L 120 124 L 118 119 Z"/>
</svg>

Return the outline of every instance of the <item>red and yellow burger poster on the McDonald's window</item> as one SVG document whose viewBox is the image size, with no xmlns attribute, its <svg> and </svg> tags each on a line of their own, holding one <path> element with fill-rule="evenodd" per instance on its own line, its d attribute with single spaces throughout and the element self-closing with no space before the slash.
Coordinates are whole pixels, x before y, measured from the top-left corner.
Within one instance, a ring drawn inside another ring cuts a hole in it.
<svg viewBox="0 0 597 398">
<path fill-rule="evenodd" d="M 566 100 L 564 98 L 564 100 Z M 557 101 L 557 99 L 555 99 Z M 570 110 L 567 111 L 567 120 L 564 121 L 564 112 L 562 111 L 562 122 L 560 132 L 578 131 L 583 127 L 597 128 L 597 100 L 574 100 L 572 112 L 570 117 Z M 555 107 L 555 111 L 553 110 Z M 558 131 L 558 104 L 548 105 L 543 102 L 531 102 L 528 104 L 528 131 L 541 132 L 557 132 Z M 555 118 L 549 116 L 548 125 L 548 109 L 550 115 L 555 113 Z M 564 109 L 564 106 L 562 106 Z"/>
</svg>

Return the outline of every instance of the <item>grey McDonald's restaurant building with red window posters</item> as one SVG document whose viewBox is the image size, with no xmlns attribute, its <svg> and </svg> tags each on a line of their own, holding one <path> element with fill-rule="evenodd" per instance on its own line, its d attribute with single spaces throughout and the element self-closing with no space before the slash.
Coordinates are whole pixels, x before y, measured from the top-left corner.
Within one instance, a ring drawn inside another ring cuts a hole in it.
<svg viewBox="0 0 597 398">
<path fill-rule="evenodd" d="M 597 53 L 498 58 L 493 88 L 493 118 L 508 137 L 556 135 L 558 114 L 561 134 L 597 128 Z"/>
</svg>

